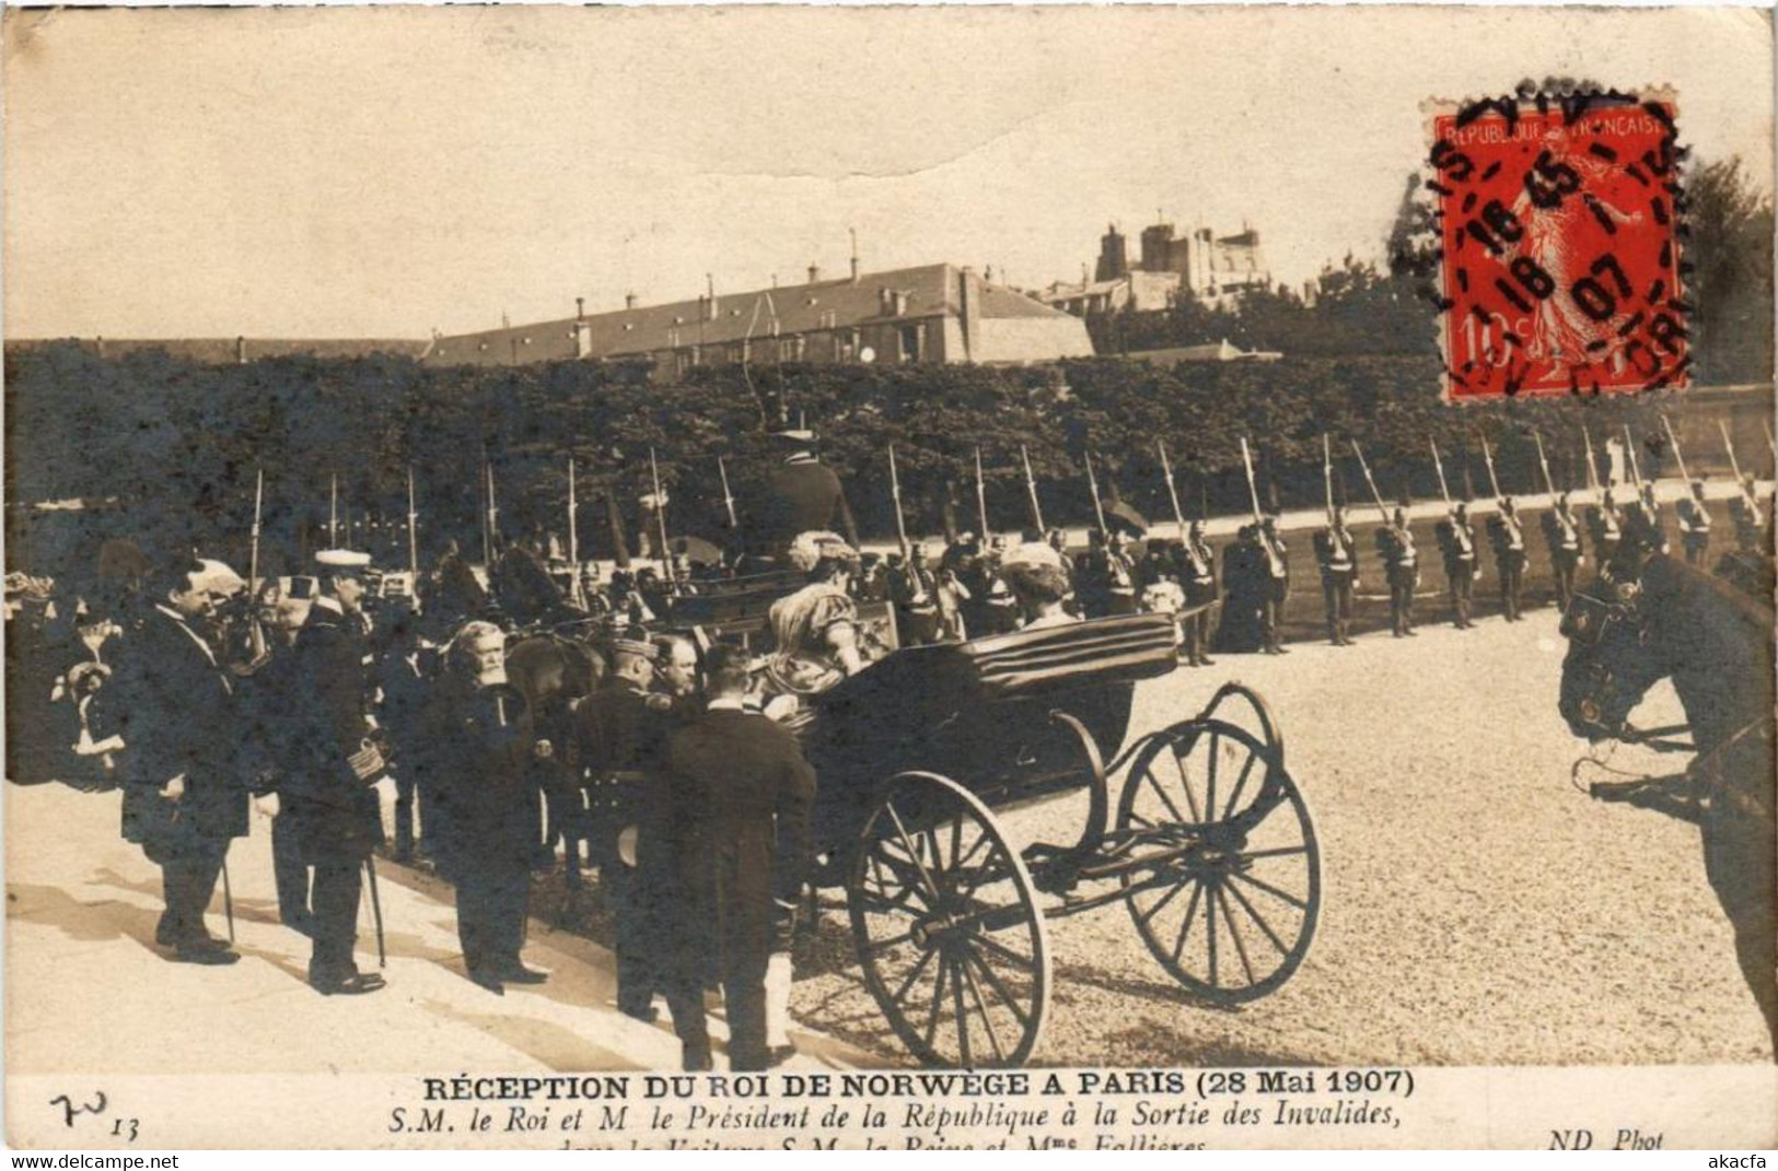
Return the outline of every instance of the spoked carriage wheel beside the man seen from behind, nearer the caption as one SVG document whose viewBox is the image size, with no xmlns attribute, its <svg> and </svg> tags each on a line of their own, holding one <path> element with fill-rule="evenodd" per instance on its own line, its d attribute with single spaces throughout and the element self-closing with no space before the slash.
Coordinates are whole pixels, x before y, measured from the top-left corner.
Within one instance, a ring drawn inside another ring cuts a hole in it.
<svg viewBox="0 0 1778 1171">
<path fill-rule="evenodd" d="M 933 773 L 893 778 L 846 894 L 864 983 L 916 1057 L 1029 1059 L 1049 1008 L 1049 940 L 1024 862 L 973 793 Z"/>
</svg>

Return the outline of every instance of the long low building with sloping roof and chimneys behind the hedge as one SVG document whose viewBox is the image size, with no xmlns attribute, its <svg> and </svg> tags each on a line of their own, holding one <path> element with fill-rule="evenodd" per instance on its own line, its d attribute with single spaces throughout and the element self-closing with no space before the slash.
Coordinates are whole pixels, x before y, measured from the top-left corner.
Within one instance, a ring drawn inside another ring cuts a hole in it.
<svg viewBox="0 0 1778 1171">
<path fill-rule="evenodd" d="M 432 366 L 644 361 L 656 378 L 729 362 L 1029 364 L 1090 357 L 1076 316 L 983 281 L 973 268 L 921 265 L 747 293 L 576 313 L 555 322 L 437 336 Z"/>
</svg>

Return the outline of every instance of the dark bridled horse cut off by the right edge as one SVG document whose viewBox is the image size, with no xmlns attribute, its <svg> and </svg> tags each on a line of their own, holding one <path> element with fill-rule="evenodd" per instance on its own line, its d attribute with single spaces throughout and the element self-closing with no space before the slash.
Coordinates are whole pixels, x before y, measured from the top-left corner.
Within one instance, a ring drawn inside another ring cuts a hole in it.
<svg viewBox="0 0 1778 1171">
<path fill-rule="evenodd" d="M 1744 593 L 1655 547 L 1627 530 L 1570 602 L 1559 711 L 1591 743 L 1696 753 L 1677 777 L 1595 784 L 1591 793 L 1698 823 L 1705 874 L 1778 1050 L 1773 608 L 1769 595 Z M 1630 713 L 1661 679 L 1673 681 L 1687 723 L 1639 730 Z M 1687 729 L 1691 743 L 1677 743 Z"/>
</svg>

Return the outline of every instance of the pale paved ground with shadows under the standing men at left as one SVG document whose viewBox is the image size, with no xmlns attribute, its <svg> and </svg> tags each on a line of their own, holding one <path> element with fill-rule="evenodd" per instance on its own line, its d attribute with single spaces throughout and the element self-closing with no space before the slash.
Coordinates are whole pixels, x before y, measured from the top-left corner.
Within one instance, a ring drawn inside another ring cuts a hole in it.
<svg viewBox="0 0 1778 1171">
<path fill-rule="evenodd" d="M 14 1073 L 439 1073 L 672 1070 L 665 1027 L 610 1006 L 610 952 L 532 922 L 526 960 L 553 977 L 496 997 L 462 974 L 455 913 L 437 883 L 386 865 L 389 986 L 322 997 L 304 983 L 308 940 L 279 926 L 268 823 L 231 851 L 242 961 L 167 963 L 153 945 L 160 872 L 117 837 L 117 794 L 5 785 L 5 1057 Z M 443 896 L 443 897 L 441 897 Z M 368 908 L 359 967 L 375 967 Z M 210 929 L 226 931 L 220 892 Z M 178 1031 L 169 1034 L 171 1020 Z M 711 1024 L 724 1038 L 720 1015 Z M 800 1066 L 855 1050 L 813 1031 Z"/>
</svg>

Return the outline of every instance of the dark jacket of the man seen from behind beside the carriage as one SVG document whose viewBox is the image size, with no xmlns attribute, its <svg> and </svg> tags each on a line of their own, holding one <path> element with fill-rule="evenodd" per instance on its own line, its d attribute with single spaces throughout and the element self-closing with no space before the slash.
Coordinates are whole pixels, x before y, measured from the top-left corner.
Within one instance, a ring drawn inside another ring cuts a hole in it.
<svg viewBox="0 0 1778 1171">
<path fill-rule="evenodd" d="M 775 940 L 773 903 L 793 901 L 809 864 L 814 769 L 766 716 L 709 711 L 667 745 L 688 960 L 720 947 L 731 970 L 757 967 Z"/>
</svg>

